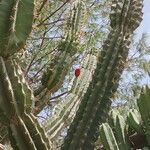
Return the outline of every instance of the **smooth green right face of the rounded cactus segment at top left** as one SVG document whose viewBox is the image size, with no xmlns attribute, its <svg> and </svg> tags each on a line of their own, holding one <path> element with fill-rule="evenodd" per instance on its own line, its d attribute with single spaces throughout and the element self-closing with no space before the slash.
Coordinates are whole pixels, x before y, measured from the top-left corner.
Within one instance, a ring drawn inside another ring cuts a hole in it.
<svg viewBox="0 0 150 150">
<path fill-rule="evenodd" d="M 8 49 L 17 50 L 24 46 L 32 28 L 33 0 L 17 0 L 14 9 L 11 34 L 8 40 Z M 28 19 L 28 21 L 26 21 Z"/>
</svg>

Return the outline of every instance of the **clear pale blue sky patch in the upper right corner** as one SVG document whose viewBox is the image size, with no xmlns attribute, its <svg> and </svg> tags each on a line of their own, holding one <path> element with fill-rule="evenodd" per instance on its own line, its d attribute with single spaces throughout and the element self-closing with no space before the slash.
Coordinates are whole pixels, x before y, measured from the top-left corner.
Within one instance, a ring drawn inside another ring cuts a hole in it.
<svg viewBox="0 0 150 150">
<path fill-rule="evenodd" d="M 142 33 L 148 34 L 148 43 L 150 44 L 150 0 L 144 0 L 144 8 L 143 8 L 143 21 L 141 25 L 136 30 L 138 36 L 141 36 Z"/>
</svg>

